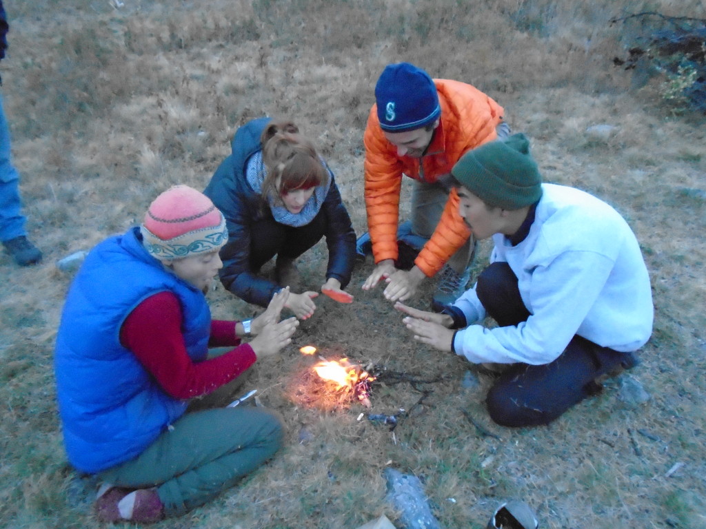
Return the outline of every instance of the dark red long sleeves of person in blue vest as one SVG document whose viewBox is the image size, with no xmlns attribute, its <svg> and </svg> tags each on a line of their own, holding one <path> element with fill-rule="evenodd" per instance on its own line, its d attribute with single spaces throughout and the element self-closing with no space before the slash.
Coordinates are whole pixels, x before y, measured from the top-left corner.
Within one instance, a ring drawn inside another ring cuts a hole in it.
<svg viewBox="0 0 706 529">
<path fill-rule="evenodd" d="M 230 382 L 255 363 L 255 351 L 240 343 L 236 322 L 213 320 L 208 345 L 237 346 L 232 351 L 193 363 L 181 335 L 181 305 L 171 292 L 145 299 L 126 318 L 120 342 L 136 355 L 167 394 L 191 399 Z"/>
</svg>

